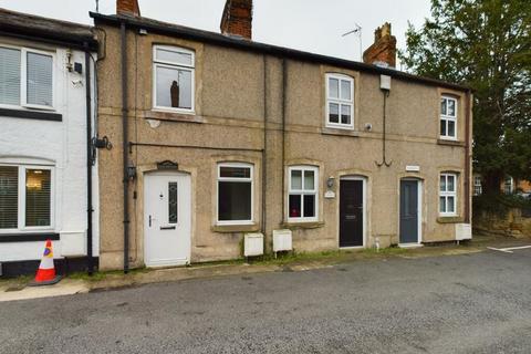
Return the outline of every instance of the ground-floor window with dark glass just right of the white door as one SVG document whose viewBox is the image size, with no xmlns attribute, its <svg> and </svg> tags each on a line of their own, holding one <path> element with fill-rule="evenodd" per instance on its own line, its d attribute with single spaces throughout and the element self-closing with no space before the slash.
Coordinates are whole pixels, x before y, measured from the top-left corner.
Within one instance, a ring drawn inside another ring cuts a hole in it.
<svg viewBox="0 0 531 354">
<path fill-rule="evenodd" d="M 252 165 L 218 164 L 218 223 L 252 222 Z"/>
</svg>

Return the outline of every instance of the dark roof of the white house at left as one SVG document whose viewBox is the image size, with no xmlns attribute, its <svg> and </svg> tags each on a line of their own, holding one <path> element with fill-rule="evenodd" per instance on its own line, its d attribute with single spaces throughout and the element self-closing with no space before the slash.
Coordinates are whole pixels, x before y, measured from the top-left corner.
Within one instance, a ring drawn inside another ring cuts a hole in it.
<svg viewBox="0 0 531 354">
<path fill-rule="evenodd" d="M 43 18 L 0 8 L 0 34 L 42 39 L 49 42 L 74 44 L 82 46 L 87 43 L 92 49 L 97 42 L 92 27 Z"/>
</svg>

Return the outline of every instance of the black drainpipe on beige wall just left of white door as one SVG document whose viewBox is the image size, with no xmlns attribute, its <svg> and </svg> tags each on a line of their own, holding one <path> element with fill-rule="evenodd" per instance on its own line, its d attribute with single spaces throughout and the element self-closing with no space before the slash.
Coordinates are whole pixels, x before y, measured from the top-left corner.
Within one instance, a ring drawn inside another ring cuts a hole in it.
<svg viewBox="0 0 531 354">
<path fill-rule="evenodd" d="M 127 33 L 125 32 L 125 22 L 121 23 L 122 38 L 122 163 L 123 163 L 123 183 L 124 183 L 124 273 L 129 271 L 129 189 L 127 177 Z"/>
</svg>

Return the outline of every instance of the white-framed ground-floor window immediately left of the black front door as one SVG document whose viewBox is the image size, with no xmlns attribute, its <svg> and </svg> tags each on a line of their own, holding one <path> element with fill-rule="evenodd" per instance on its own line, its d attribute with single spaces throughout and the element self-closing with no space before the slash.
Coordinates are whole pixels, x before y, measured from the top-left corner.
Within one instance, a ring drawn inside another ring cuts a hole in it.
<svg viewBox="0 0 531 354">
<path fill-rule="evenodd" d="M 288 219 L 315 221 L 317 219 L 319 169 L 314 166 L 289 168 Z"/>
</svg>

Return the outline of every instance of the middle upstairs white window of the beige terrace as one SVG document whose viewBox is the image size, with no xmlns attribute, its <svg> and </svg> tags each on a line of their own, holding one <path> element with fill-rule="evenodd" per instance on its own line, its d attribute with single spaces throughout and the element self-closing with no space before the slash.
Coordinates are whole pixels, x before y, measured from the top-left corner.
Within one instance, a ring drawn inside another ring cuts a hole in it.
<svg viewBox="0 0 531 354">
<path fill-rule="evenodd" d="M 354 80 L 346 75 L 326 74 L 326 126 L 354 128 Z"/>
</svg>

